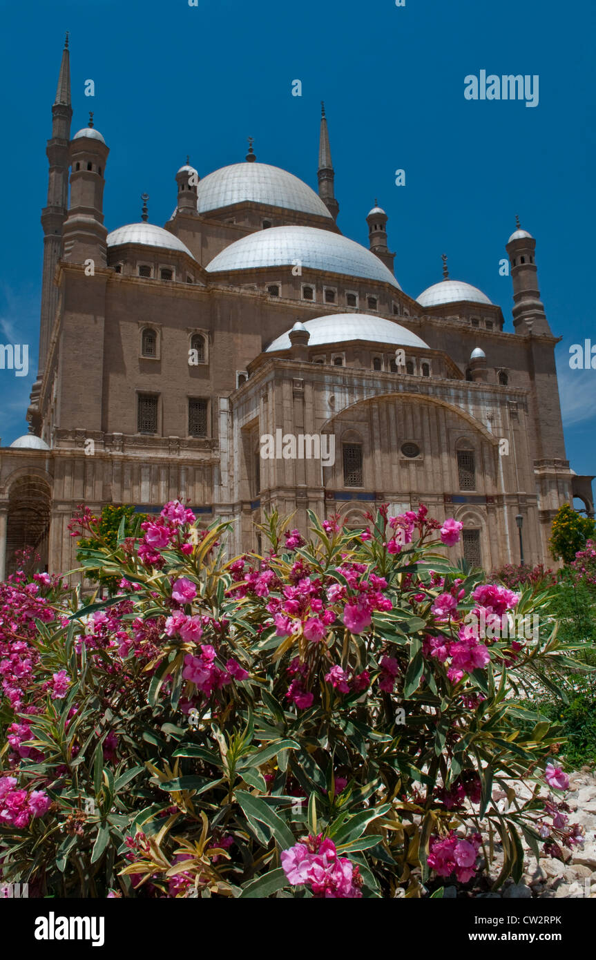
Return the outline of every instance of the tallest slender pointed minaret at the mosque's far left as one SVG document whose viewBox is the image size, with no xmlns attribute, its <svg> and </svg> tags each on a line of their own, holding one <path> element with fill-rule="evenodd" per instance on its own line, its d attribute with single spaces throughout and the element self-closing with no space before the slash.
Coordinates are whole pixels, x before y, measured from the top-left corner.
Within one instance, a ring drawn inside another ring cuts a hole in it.
<svg viewBox="0 0 596 960">
<path fill-rule="evenodd" d="M 45 359 L 56 307 L 58 288 L 54 284 L 54 274 L 62 246 L 62 227 L 68 211 L 68 168 L 70 166 L 69 141 L 72 107 L 70 102 L 70 60 L 68 53 L 68 34 L 64 40 L 62 61 L 56 100 L 52 107 L 52 139 L 48 140 L 46 154 L 50 164 L 48 177 L 48 202 L 41 211 L 43 227 L 43 275 L 41 280 L 41 316 L 39 323 L 39 359 L 37 378 L 31 392 L 30 420 L 35 423 L 37 401 L 41 389 Z"/>
</svg>

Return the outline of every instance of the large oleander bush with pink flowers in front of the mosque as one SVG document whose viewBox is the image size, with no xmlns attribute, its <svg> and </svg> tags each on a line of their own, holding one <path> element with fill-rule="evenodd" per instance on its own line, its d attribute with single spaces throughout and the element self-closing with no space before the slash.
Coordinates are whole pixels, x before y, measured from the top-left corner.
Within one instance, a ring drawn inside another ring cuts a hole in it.
<svg viewBox="0 0 596 960">
<path fill-rule="evenodd" d="M 536 854 L 582 841 L 560 726 L 521 702 L 576 666 L 552 588 L 449 563 L 462 525 L 424 507 L 356 536 L 309 516 L 308 541 L 272 515 L 266 555 L 230 559 L 226 525 L 200 530 L 179 502 L 124 516 L 115 542 L 82 508 L 83 566 L 114 596 L 43 573 L 0 585 L 5 881 L 430 897 L 475 889 L 496 843 L 498 886 L 521 876 L 522 837 Z M 512 636 L 513 614 L 539 631 Z M 518 780 L 531 795 L 513 803 Z"/>
</svg>

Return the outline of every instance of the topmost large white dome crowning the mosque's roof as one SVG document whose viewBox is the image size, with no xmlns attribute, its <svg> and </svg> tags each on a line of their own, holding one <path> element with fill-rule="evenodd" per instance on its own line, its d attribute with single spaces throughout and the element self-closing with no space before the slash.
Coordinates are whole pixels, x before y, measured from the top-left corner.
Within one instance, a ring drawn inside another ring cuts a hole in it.
<svg viewBox="0 0 596 960">
<path fill-rule="evenodd" d="M 232 163 L 207 174 L 197 187 L 199 213 L 242 203 L 281 206 L 333 219 L 321 197 L 306 183 L 268 163 Z"/>
</svg>

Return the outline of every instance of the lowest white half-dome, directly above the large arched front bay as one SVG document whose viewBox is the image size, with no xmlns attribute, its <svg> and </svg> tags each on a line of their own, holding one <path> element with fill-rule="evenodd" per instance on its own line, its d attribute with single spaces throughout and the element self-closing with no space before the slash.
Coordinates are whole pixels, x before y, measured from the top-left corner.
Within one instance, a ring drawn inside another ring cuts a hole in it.
<svg viewBox="0 0 596 960">
<path fill-rule="evenodd" d="M 428 345 L 405 326 L 394 324 L 392 320 L 385 320 L 383 317 L 372 317 L 368 313 L 334 313 L 327 317 L 306 320 L 304 326 L 310 333 L 309 347 L 371 340 L 375 344 L 428 349 Z M 265 352 L 289 350 L 291 346 L 289 332 L 282 333 Z"/>
</svg>

